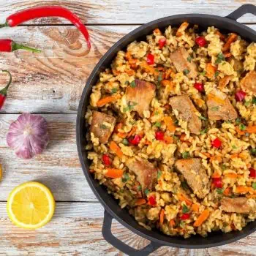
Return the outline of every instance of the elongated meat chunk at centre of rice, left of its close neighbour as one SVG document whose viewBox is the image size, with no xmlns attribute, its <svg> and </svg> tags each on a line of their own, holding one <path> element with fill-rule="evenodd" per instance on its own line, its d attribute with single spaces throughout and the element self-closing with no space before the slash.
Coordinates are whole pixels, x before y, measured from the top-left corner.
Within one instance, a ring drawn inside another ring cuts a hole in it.
<svg viewBox="0 0 256 256">
<path fill-rule="evenodd" d="M 200 133 L 202 122 L 195 114 L 197 109 L 187 95 L 171 97 L 170 105 L 178 111 L 178 118 L 187 121 L 190 132 L 195 134 Z"/>
</svg>

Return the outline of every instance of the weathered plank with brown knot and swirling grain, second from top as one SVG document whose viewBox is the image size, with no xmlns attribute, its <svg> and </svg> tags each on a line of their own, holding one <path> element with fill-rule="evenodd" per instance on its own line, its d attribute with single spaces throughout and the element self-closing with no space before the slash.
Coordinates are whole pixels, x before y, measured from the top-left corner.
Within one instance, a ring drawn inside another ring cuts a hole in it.
<svg viewBox="0 0 256 256">
<path fill-rule="evenodd" d="M 0 53 L 1 69 L 13 75 L 6 113 L 76 113 L 86 80 L 102 55 L 118 39 L 138 26 L 90 26 L 92 49 L 72 26 L 31 26 L 0 30 L 0 38 L 13 38 L 43 52 Z M 256 25 L 250 25 L 256 29 Z M 0 72 L 0 84 L 7 75 Z"/>
</svg>

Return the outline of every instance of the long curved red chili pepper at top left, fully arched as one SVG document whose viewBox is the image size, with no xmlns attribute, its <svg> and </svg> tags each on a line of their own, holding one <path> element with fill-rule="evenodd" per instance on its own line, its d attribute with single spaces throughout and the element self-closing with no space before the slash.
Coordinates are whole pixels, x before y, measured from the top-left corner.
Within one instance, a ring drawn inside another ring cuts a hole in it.
<svg viewBox="0 0 256 256">
<path fill-rule="evenodd" d="M 77 15 L 70 12 L 64 7 L 59 6 L 45 6 L 45 7 L 34 7 L 27 10 L 22 10 L 20 12 L 16 12 L 15 14 L 7 17 L 6 22 L 0 25 L 0 28 L 4 26 L 18 26 L 21 23 L 24 23 L 28 20 L 33 20 L 35 18 L 43 18 L 43 17 L 61 17 L 66 18 L 72 24 L 74 24 L 86 38 L 88 49 L 91 49 L 91 42 L 88 30 L 86 26 L 83 25 L 80 18 Z"/>
</svg>

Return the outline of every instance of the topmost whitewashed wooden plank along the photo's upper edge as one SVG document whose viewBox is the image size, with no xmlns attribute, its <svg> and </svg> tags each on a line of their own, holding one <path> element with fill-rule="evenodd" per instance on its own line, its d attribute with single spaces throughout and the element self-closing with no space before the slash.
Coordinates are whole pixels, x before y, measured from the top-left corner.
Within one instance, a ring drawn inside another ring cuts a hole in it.
<svg viewBox="0 0 256 256">
<path fill-rule="evenodd" d="M 118 0 L 72 0 L 72 1 L 23 1 L 2 0 L 0 4 L 1 22 L 12 13 L 29 7 L 42 5 L 61 5 L 75 12 L 84 23 L 146 23 L 157 18 L 184 13 L 205 13 L 226 16 L 241 4 L 255 4 L 255 0 L 147 0 L 147 1 L 118 1 Z M 241 22 L 254 23 L 254 15 L 244 15 Z M 68 23 L 57 18 L 43 18 L 30 23 L 59 24 Z"/>
</svg>

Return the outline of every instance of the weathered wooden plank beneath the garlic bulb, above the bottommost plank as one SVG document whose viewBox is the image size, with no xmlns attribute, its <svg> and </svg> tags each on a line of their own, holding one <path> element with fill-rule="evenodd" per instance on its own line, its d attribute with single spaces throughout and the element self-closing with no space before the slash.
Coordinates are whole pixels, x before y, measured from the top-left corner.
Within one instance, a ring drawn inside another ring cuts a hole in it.
<svg viewBox="0 0 256 256">
<path fill-rule="evenodd" d="M 75 143 L 76 115 L 42 115 L 48 121 L 50 143 L 34 159 L 15 156 L 6 143 L 10 123 L 18 115 L 0 114 L 0 163 L 4 176 L 0 183 L 0 201 L 7 200 L 11 190 L 26 181 L 41 181 L 59 201 L 97 200 L 83 176 Z"/>
</svg>

